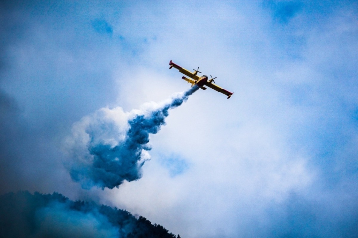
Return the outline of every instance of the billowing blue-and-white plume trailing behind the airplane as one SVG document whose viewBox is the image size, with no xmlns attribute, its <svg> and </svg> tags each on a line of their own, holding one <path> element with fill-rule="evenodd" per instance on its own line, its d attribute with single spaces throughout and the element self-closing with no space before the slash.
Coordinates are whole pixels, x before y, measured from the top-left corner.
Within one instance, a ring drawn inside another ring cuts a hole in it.
<svg viewBox="0 0 358 238">
<path fill-rule="evenodd" d="M 149 159 L 149 134 L 156 134 L 165 124 L 170 108 L 182 105 L 197 90 L 194 85 L 167 102 L 148 103 L 129 113 L 121 107 L 102 108 L 84 117 L 67 140 L 67 150 L 72 152 L 68 162 L 72 179 L 87 189 L 112 189 L 124 180 L 139 179 L 141 167 Z"/>
</svg>

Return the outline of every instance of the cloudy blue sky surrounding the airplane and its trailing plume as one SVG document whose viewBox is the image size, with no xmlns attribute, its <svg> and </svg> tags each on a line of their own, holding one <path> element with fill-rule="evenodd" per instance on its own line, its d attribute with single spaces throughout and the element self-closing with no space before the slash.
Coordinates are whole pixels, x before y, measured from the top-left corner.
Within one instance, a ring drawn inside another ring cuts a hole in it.
<svg viewBox="0 0 358 238">
<path fill-rule="evenodd" d="M 1 2 L 1 194 L 91 199 L 182 237 L 354 237 L 357 9 Z M 68 138 L 101 108 L 131 112 L 187 90 L 170 60 L 234 95 L 195 92 L 150 136 L 141 179 L 82 189 L 64 166 Z"/>
</svg>

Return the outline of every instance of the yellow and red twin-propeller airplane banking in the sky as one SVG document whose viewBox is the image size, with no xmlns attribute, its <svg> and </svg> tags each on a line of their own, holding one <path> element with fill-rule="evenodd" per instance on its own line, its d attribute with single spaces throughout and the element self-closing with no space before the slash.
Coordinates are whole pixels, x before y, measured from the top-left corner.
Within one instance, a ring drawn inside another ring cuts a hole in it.
<svg viewBox="0 0 358 238">
<path fill-rule="evenodd" d="M 184 79 L 184 80 L 187 81 L 188 83 L 191 83 L 192 86 L 193 86 L 193 85 L 198 85 L 198 86 L 199 86 L 201 89 L 203 89 L 203 90 L 206 89 L 206 87 L 204 87 L 204 85 L 205 85 L 205 86 L 208 86 L 209 88 L 212 88 L 213 90 L 216 90 L 216 91 L 218 91 L 218 92 L 224 93 L 226 96 L 228 96 L 227 99 L 229 99 L 229 98 L 231 97 L 231 95 L 233 95 L 233 92 L 229 92 L 229 91 L 225 90 L 224 88 L 219 87 L 219 86 L 217 86 L 216 84 L 214 84 L 214 83 L 215 83 L 214 79 L 216 79 L 217 77 L 214 77 L 214 78 L 213 78 L 213 77 L 210 75 L 211 79 L 209 79 L 209 80 L 208 80 L 208 76 L 206 76 L 206 75 L 203 75 L 203 76 L 199 77 L 197 74 L 198 74 L 198 73 L 200 73 L 200 74 L 202 73 L 202 72 L 199 71 L 199 67 L 198 67 L 197 70 L 194 70 L 194 69 L 193 69 L 194 72 L 190 72 L 189 70 L 186 70 L 186 69 L 180 67 L 179 65 L 173 63 L 171 60 L 170 60 L 170 62 L 169 62 L 169 65 L 170 65 L 169 69 L 171 69 L 171 68 L 174 67 L 175 69 L 178 69 L 179 72 L 181 72 L 182 74 L 184 74 L 184 75 L 186 75 L 186 76 L 192 78 L 193 80 L 192 80 L 192 79 L 188 79 L 188 78 L 186 78 L 186 77 L 184 77 L 184 76 L 182 77 L 182 79 Z M 213 82 L 214 82 L 214 83 L 213 83 Z"/>
</svg>

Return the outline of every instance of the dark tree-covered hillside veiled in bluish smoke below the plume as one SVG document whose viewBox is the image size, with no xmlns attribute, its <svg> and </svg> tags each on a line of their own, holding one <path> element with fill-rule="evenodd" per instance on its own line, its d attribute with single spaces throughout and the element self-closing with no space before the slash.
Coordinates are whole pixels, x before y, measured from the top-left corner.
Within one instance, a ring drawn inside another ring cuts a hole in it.
<svg viewBox="0 0 358 238">
<path fill-rule="evenodd" d="M 125 210 L 27 191 L 0 197 L 0 237 L 176 238 L 163 226 Z"/>
</svg>

